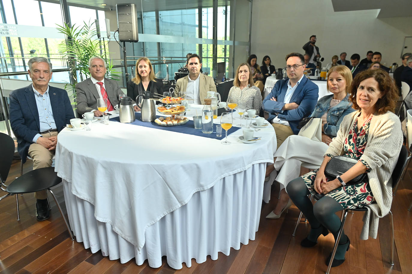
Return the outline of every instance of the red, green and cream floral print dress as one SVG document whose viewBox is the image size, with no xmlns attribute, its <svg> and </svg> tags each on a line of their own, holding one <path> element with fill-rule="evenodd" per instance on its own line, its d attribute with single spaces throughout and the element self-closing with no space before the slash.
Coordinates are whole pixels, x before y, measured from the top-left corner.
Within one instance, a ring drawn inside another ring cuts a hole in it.
<svg viewBox="0 0 412 274">
<path fill-rule="evenodd" d="M 348 137 L 345 139 L 343 146 L 345 153 L 343 156 L 351 157 L 357 160 L 361 158 L 363 151 L 365 150 L 366 143 L 368 142 L 368 131 L 371 119 L 372 117 L 366 120 L 358 130 L 358 118 L 356 118 L 351 130 L 349 131 Z M 325 156 L 333 157 L 330 154 L 325 154 Z M 361 163 L 366 166 L 366 172 L 370 172 L 370 166 L 363 160 L 361 160 Z M 316 194 L 314 182 L 318 170 L 319 169 L 301 176 L 311 194 Z M 363 207 L 373 201 L 373 194 L 370 189 L 368 179 L 366 179 L 365 182 L 356 185 L 338 187 L 337 189 L 330 191 L 325 196 L 335 199 L 344 209 Z"/>
</svg>

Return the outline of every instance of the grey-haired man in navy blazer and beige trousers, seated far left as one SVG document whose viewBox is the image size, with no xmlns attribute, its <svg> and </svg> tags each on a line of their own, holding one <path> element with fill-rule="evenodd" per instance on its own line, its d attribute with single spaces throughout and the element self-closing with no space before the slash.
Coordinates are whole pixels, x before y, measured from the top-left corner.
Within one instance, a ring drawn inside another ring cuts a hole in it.
<svg viewBox="0 0 412 274">
<path fill-rule="evenodd" d="M 10 124 L 23 163 L 30 156 L 33 169 L 40 169 L 52 166 L 57 133 L 75 116 L 67 91 L 49 86 L 52 64 L 44 57 L 33 57 L 28 68 L 33 83 L 10 93 Z M 36 192 L 35 197 L 37 220 L 47 220 L 46 190 Z"/>
</svg>

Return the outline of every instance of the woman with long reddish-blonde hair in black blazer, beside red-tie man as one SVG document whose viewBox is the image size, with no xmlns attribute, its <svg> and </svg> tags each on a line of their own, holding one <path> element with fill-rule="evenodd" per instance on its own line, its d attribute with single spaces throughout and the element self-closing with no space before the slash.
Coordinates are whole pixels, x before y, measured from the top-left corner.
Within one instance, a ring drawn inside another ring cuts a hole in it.
<svg viewBox="0 0 412 274">
<path fill-rule="evenodd" d="M 127 96 L 134 101 L 138 95 L 143 94 L 147 90 L 152 93 L 163 94 L 163 81 L 155 78 L 150 60 L 146 57 L 141 57 L 136 62 L 136 76 L 129 80 L 127 84 Z"/>
</svg>

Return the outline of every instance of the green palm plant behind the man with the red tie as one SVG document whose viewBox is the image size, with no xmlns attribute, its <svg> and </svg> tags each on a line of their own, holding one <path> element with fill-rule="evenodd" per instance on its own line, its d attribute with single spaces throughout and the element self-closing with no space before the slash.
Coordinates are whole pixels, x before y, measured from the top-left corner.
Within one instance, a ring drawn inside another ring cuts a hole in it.
<svg viewBox="0 0 412 274">
<path fill-rule="evenodd" d="M 63 26 L 57 26 L 56 29 L 66 35 L 66 39 L 60 44 L 60 49 L 62 56 L 68 59 L 71 82 L 65 85 L 65 89 L 73 92 L 73 104 L 76 104 L 75 84 L 90 77 L 89 59 L 91 57 L 100 56 L 103 58 L 107 65 L 105 77 L 118 80 L 116 79 L 118 72 L 112 71 L 112 61 L 106 57 L 106 52 L 101 54 L 101 50 L 106 49 L 108 44 L 96 39 L 97 31 L 94 23 L 84 22 L 83 26 L 75 26 L 75 24 L 69 26 L 65 23 Z"/>
</svg>

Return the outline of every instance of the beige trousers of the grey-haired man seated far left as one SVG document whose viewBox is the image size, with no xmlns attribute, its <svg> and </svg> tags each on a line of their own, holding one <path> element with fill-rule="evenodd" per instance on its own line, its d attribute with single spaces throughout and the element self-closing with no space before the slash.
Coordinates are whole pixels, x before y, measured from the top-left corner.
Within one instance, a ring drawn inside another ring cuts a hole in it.
<svg viewBox="0 0 412 274">
<path fill-rule="evenodd" d="M 43 133 L 43 137 L 49 138 L 52 136 L 57 136 L 57 131 Z M 33 143 L 28 148 L 28 156 L 33 158 L 33 169 L 41 169 L 43 167 L 50 167 L 53 163 L 53 156 L 55 150 L 48 150 L 44 146 L 37 143 Z M 37 199 L 47 199 L 47 190 L 37 191 L 34 194 Z"/>
</svg>

